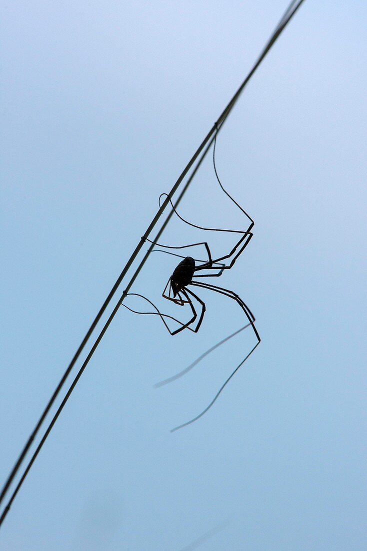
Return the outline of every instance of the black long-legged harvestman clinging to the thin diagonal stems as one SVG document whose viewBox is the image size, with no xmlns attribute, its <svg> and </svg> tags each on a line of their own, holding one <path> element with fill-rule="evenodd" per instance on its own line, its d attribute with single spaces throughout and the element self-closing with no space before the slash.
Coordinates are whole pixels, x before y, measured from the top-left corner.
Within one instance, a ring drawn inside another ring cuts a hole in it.
<svg viewBox="0 0 367 551">
<path fill-rule="evenodd" d="M 172 204 L 171 198 L 169 198 L 169 196 L 166 193 L 162 193 L 162 195 L 160 196 L 160 202 L 161 202 L 161 198 L 163 196 L 167 196 L 168 199 L 169 199 L 169 202 L 171 203 L 172 209 L 174 210 L 174 212 L 176 213 L 178 218 L 180 218 L 180 220 L 182 220 L 185 224 L 188 224 L 188 225 L 193 226 L 194 228 L 198 228 L 200 230 L 222 231 L 222 232 L 224 231 L 224 232 L 227 232 L 227 233 L 240 234 L 240 238 L 239 238 L 238 242 L 234 245 L 233 249 L 227 255 L 223 255 L 223 256 L 221 256 L 219 258 L 215 258 L 215 259 L 212 258 L 209 245 L 207 244 L 206 241 L 201 241 L 199 243 L 193 243 L 193 244 L 190 244 L 190 245 L 183 245 L 183 246 L 180 246 L 180 247 L 172 247 L 172 246 L 162 245 L 162 244 L 157 243 L 155 241 L 150 241 L 149 239 L 146 239 L 146 241 L 149 241 L 151 244 L 157 245 L 158 247 L 162 247 L 163 249 L 178 250 L 178 249 L 187 249 L 188 247 L 204 245 L 204 247 L 206 249 L 206 252 L 207 252 L 208 260 L 207 261 L 199 261 L 199 262 L 203 262 L 203 263 L 199 264 L 199 266 L 196 266 L 195 260 L 194 260 L 193 257 L 191 257 L 191 256 L 182 257 L 181 256 L 181 258 L 183 258 L 183 260 L 181 262 L 179 262 L 177 267 L 174 269 L 174 271 L 172 273 L 172 276 L 169 278 L 169 280 L 166 284 L 166 287 L 165 287 L 165 289 L 163 290 L 163 293 L 162 293 L 163 298 L 174 302 L 174 304 L 177 304 L 179 306 L 184 306 L 185 304 L 188 304 L 191 308 L 191 312 L 193 314 L 193 317 L 191 317 L 190 320 L 187 321 L 186 323 L 183 323 L 182 321 L 179 321 L 176 318 L 174 318 L 172 316 L 169 316 L 168 314 L 162 314 L 153 302 L 151 302 L 145 296 L 140 295 L 138 293 L 128 293 L 127 296 L 128 295 L 130 295 L 130 296 L 140 296 L 141 298 L 143 298 L 144 300 L 149 302 L 149 304 L 152 307 L 154 307 L 154 309 L 156 310 L 155 312 L 138 312 L 136 310 L 131 309 L 130 307 L 128 307 L 126 305 L 124 305 L 124 306 L 128 310 L 130 310 L 132 312 L 135 312 L 136 314 L 155 314 L 155 315 L 160 316 L 161 320 L 163 321 L 163 323 L 165 324 L 167 330 L 169 331 L 169 333 L 171 335 L 176 335 L 177 333 L 183 331 L 184 329 L 189 329 L 190 331 L 193 331 L 194 333 L 197 333 L 199 331 L 202 320 L 204 318 L 206 308 L 205 308 L 205 302 L 203 300 L 201 300 L 201 298 L 198 295 L 196 295 L 191 289 L 188 288 L 188 285 L 190 285 L 190 286 L 197 287 L 197 288 L 209 289 L 209 290 L 215 291 L 216 293 L 219 293 L 221 295 L 227 296 L 230 299 L 233 299 L 235 302 L 237 302 L 237 304 L 240 306 L 240 308 L 243 310 L 245 316 L 247 317 L 248 323 L 244 327 L 242 327 L 241 329 L 238 329 L 238 331 L 236 331 L 235 333 L 232 333 L 231 335 L 229 335 L 228 337 L 223 339 L 223 341 L 221 341 L 220 343 L 217 343 L 215 346 L 213 346 L 212 348 L 207 350 L 207 352 L 202 354 L 200 356 L 200 358 L 195 360 L 194 363 L 191 364 L 184 371 L 180 372 L 176 376 L 170 377 L 169 379 L 167 379 L 165 381 L 162 381 L 161 383 L 158 383 L 157 386 L 160 386 L 161 384 L 172 381 L 172 380 L 176 379 L 178 376 L 183 375 L 185 372 L 187 372 L 189 369 L 191 369 L 194 365 L 196 365 L 198 363 L 198 361 L 200 361 L 202 358 L 204 358 L 204 356 L 206 354 L 210 353 L 213 349 L 217 348 L 220 344 L 228 341 L 229 338 L 233 337 L 235 334 L 238 334 L 240 331 L 242 331 L 243 329 L 245 329 L 249 326 L 251 326 L 253 328 L 253 331 L 255 333 L 257 342 L 256 342 L 255 346 L 250 350 L 249 354 L 247 354 L 247 356 L 245 356 L 245 358 L 242 360 L 242 362 L 237 366 L 237 368 L 232 372 L 232 374 L 228 377 L 228 379 L 223 383 L 220 390 L 217 392 L 216 396 L 212 399 L 209 406 L 207 406 L 195 418 L 191 419 L 187 423 L 183 423 L 182 425 L 177 426 L 176 428 L 172 429 L 172 431 L 180 429 L 183 426 L 189 425 L 190 423 L 193 423 L 194 421 L 199 419 L 202 415 L 204 415 L 204 413 L 206 413 L 207 410 L 216 401 L 216 399 L 218 398 L 218 396 L 222 392 L 223 388 L 227 385 L 229 380 L 232 379 L 235 372 L 238 371 L 240 366 L 242 366 L 244 364 L 244 362 L 249 358 L 250 354 L 252 354 L 254 352 L 255 348 L 260 343 L 260 336 L 259 336 L 258 331 L 256 330 L 255 325 L 254 325 L 255 317 L 252 314 L 249 307 L 245 304 L 245 302 L 237 294 L 235 294 L 234 291 L 229 290 L 229 289 L 224 289 L 223 287 L 218 287 L 218 285 L 212 285 L 210 283 L 196 281 L 196 279 L 194 280 L 194 278 L 220 277 L 222 275 L 222 273 L 224 272 L 224 270 L 231 269 L 234 266 L 234 263 L 237 260 L 237 258 L 243 253 L 243 251 L 245 250 L 245 248 L 249 244 L 249 242 L 251 240 L 251 237 L 253 237 L 253 233 L 251 232 L 251 230 L 253 229 L 253 226 L 254 226 L 254 220 L 247 214 L 247 212 L 245 212 L 245 210 L 242 207 L 239 206 L 239 204 L 233 199 L 233 197 L 231 197 L 231 195 L 229 195 L 229 193 L 222 186 L 222 183 L 221 183 L 221 181 L 218 177 L 217 170 L 216 170 L 216 165 L 215 165 L 215 147 L 216 147 L 216 137 L 215 137 L 214 147 L 213 147 L 213 166 L 214 166 L 217 181 L 218 181 L 219 185 L 221 186 L 223 192 L 226 193 L 226 195 L 231 199 L 231 201 L 233 201 L 233 203 L 250 220 L 250 224 L 249 224 L 248 229 L 245 230 L 245 231 L 225 230 L 225 229 L 216 229 L 216 228 L 203 228 L 202 226 L 192 224 L 192 223 L 188 222 L 187 220 L 185 220 L 184 218 L 182 218 L 182 216 L 180 214 L 178 214 L 176 208 L 174 208 L 174 206 Z M 167 252 L 167 251 L 160 251 L 160 252 Z M 180 255 L 176 255 L 175 253 L 168 253 L 168 254 L 171 254 L 173 256 L 180 256 Z M 222 261 L 225 261 L 225 260 L 229 260 L 228 265 L 222 263 Z M 216 264 L 216 266 L 214 266 L 214 264 Z M 216 271 L 216 273 L 211 272 L 211 273 L 196 274 L 196 272 L 212 271 L 212 270 Z M 199 302 L 199 304 L 201 305 L 201 312 L 200 312 L 199 320 L 198 320 L 198 314 L 195 310 L 193 300 L 192 300 L 191 297 L 196 299 Z M 171 329 L 168 327 L 168 325 L 165 321 L 165 318 L 170 318 L 171 320 L 176 321 L 177 323 L 179 323 L 180 327 L 178 329 L 176 329 L 175 331 L 171 331 Z M 196 322 L 196 325 L 193 326 L 195 324 L 196 320 L 198 320 L 198 321 Z"/>
</svg>

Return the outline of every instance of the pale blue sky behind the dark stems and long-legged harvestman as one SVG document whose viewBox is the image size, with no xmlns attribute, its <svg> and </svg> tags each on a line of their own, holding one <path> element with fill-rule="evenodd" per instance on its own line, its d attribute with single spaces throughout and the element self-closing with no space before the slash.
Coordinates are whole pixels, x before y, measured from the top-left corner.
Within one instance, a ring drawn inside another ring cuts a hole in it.
<svg viewBox="0 0 367 551">
<path fill-rule="evenodd" d="M 4 3 L 1 483 L 158 197 L 285 8 Z M 0 548 L 179 551 L 210 531 L 203 551 L 366 548 L 366 23 L 365 2 L 307 0 L 218 137 L 223 185 L 255 227 L 217 283 L 254 312 L 260 346 L 215 407 L 171 434 L 210 402 L 254 336 L 240 333 L 156 390 L 243 325 L 242 312 L 203 290 L 199 333 L 171 337 L 155 316 L 121 307 Z M 180 213 L 245 229 L 209 157 Z M 161 242 L 204 234 L 173 219 Z M 216 256 L 232 242 L 206 238 Z M 187 319 L 160 298 L 174 266 L 153 253 L 132 291 Z"/>
</svg>

